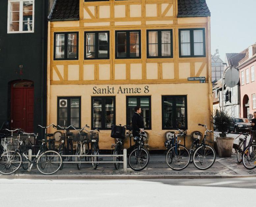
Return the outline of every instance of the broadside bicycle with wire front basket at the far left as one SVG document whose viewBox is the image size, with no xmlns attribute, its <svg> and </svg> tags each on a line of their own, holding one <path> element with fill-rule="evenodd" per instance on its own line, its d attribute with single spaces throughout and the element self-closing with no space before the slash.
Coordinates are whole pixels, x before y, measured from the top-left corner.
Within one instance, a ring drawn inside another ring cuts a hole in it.
<svg viewBox="0 0 256 207">
<path fill-rule="evenodd" d="M 42 145 L 40 146 L 40 149 L 38 150 L 38 153 L 33 162 L 29 160 L 24 152 L 22 153 L 22 155 L 30 163 L 30 167 L 27 170 L 28 172 L 31 171 L 35 163 L 38 171 L 45 175 L 56 173 L 60 169 L 62 164 L 61 155 L 53 150 L 45 151 L 44 149 L 47 141 L 48 140 L 44 139 L 40 140 Z M 4 149 L 6 149 L 6 152 L 1 155 L 0 173 L 9 175 L 16 172 L 22 164 L 20 150 L 17 149 L 18 140 L 14 140 L 13 138 L 4 138 L 1 140 L 1 145 L 4 147 Z M 10 168 L 12 171 L 9 171 Z"/>
</svg>

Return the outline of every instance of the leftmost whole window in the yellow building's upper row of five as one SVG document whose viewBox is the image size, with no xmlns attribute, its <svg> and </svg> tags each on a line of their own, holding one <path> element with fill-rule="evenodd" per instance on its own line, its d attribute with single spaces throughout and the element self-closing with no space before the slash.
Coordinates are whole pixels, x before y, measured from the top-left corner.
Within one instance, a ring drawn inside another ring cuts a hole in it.
<svg viewBox="0 0 256 207">
<path fill-rule="evenodd" d="M 78 32 L 54 33 L 54 60 L 78 59 Z"/>
</svg>

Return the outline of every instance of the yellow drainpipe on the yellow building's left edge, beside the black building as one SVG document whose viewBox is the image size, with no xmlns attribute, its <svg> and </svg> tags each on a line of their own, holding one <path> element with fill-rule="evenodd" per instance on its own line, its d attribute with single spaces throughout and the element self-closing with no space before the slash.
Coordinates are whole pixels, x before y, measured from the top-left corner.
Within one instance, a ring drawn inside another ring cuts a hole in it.
<svg viewBox="0 0 256 207">
<path fill-rule="evenodd" d="M 51 22 L 48 21 L 48 36 L 47 36 L 47 110 L 46 110 L 46 125 L 50 124 L 50 81 L 51 81 L 51 77 L 50 77 L 50 57 L 51 57 Z"/>
</svg>

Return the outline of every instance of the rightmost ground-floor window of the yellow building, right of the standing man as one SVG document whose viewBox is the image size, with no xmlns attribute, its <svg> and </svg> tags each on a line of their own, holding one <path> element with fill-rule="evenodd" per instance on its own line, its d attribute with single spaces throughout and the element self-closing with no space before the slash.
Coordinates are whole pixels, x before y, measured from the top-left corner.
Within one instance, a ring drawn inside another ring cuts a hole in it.
<svg viewBox="0 0 256 207">
<path fill-rule="evenodd" d="M 187 97 L 162 96 L 162 129 L 187 129 Z"/>
</svg>

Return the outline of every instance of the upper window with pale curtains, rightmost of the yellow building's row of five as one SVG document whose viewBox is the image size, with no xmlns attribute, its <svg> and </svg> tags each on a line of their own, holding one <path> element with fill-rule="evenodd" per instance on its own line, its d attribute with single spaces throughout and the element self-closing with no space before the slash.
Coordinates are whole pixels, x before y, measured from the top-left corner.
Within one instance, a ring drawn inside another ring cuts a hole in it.
<svg viewBox="0 0 256 207">
<path fill-rule="evenodd" d="M 180 58 L 206 57 L 205 28 L 179 29 Z"/>
</svg>

